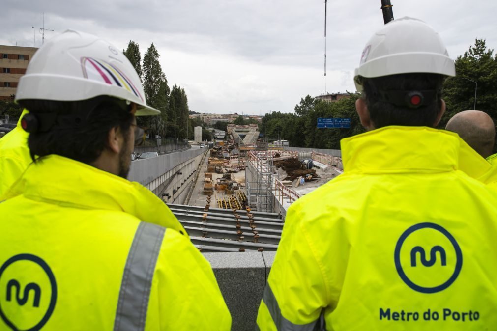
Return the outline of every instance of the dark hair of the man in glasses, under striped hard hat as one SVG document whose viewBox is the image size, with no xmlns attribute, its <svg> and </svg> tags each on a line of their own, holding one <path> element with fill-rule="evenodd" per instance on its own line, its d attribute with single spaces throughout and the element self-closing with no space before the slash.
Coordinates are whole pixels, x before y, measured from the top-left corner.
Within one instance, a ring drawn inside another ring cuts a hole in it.
<svg viewBox="0 0 497 331">
<path fill-rule="evenodd" d="M 83 101 L 20 100 L 30 114 L 55 114 L 48 130 L 28 137 L 31 158 L 57 154 L 83 163 L 95 161 L 108 146 L 108 132 L 120 127 L 128 138 L 133 114 L 125 101 L 96 97 Z"/>
</svg>

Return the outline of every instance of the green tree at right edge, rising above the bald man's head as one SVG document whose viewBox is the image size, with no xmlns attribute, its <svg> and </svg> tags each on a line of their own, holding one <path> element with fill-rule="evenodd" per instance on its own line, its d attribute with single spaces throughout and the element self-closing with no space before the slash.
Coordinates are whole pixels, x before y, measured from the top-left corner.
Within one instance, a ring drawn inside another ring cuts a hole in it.
<svg viewBox="0 0 497 331">
<path fill-rule="evenodd" d="M 445 81 L 443 98 L 447 111 L 440 122 L 444 128 L 456 113 L 474 108 L 475 87 L 478 84 L 476 109 L 488 113 L 497 120 L 497 55 L 487 49 L 484 39 L 476 39 L 475 45 L 455 61 L 456 76 Z"/>
</svg>

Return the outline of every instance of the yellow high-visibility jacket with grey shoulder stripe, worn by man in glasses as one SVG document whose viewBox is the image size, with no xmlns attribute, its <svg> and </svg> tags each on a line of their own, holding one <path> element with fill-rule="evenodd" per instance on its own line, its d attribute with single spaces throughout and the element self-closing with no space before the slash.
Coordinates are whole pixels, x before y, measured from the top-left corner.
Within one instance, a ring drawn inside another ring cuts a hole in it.
<svg viewBox="0 0 497 331">
<path fill-rule="evenodd" d="M 209 263 L 138 183 L 49 155 L 0 229 L 0 330 L 230 330 Z"/>
</svg>

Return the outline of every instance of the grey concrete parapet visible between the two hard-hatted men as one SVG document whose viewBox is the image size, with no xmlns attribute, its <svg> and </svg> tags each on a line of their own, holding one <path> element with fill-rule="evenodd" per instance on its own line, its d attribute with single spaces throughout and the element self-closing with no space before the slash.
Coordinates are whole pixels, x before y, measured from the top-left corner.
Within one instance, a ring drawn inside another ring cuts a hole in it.
<svg viewBox="0 0 497 331">
<path fill-rule="evenodd" d="M 204 253 L 228 305 L 231 330 L 255 330 L 255 320 L 276 252 Z"/>
</svg>

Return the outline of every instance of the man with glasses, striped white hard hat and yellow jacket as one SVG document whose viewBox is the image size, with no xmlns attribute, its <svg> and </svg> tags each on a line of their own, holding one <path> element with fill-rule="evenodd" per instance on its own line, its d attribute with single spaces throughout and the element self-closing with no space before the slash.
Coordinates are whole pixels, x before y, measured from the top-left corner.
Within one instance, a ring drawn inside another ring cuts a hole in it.
<svg viewBox="0 0 497 331">
<path fill-rule="evenodd" d="M 126 180 L 143 137 L 135 116 L 159 111 L 118 48 L 52 38 L 16 101 L 34 162 L 0 203 L 0 330 L 230 330 L 209 263 Z"/>
</svg>

